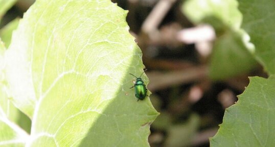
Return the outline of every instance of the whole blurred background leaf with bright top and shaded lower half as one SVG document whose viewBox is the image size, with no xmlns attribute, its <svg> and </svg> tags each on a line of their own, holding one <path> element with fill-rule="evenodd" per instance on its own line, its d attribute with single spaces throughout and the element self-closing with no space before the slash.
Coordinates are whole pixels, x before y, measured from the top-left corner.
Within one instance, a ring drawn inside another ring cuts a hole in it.
<svg viewBox="0 0 275 147">
<path fill-rule="evenodd" d="M 210 77 L 214 80 L 248 72 L 256 65 L 242 43 L 242 17 L 237 5 L 234 0 L 188 0 L 183 5 L 185 15 L 193 23 L 209 23 L 215 28 L 217 39 L 210 63 Z"/>
</svg>

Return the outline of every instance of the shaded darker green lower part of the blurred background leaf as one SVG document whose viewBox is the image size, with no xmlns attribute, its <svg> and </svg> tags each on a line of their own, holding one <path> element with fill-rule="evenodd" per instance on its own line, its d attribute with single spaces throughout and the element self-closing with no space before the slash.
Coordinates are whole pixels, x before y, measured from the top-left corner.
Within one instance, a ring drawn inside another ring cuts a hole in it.
<svg viewBox="0 0 275 147">
<path fill-rule="evenodd" d="M 254 58 L 242 42 L 242 34 L 228 32 L 217 38 L 213 46 L 210 77 L 225 79 L 253 69 Z"/>
</svg>

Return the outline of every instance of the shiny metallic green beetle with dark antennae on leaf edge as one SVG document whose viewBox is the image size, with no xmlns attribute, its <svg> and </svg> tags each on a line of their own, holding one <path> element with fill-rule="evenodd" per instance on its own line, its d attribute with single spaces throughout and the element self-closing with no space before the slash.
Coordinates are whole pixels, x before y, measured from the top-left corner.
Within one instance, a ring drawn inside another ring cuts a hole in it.
<svg viewBox="0 0 275 147">
<path fill-rule="evenodd" d="M 146 69 L 146 70 L 147 70 L 147 69 Z M 145 72 L 146 70 L 144 70 L 144 72 Z M 143 72 L 143 73 L 144 73 L 144 72 Z M 142 73 L 142 74 L 143 74 L 143 73 Z M 141 74 L 141 76 L 142 76 L 142 74 Z M 133 74 L 130 74 L 130 75 L 136 77 L 136 76 L 133 75 Z M 146 86 L 145 86 L 145 84 L 144 84 L 144 82 L 143 82 L 141 76 L 140 76 L 139 78 L 136 77 L 135 84 L 134 84 L 132 87 L 130 87 L 130 89 L 132 89 L 132 88 L 134 87 L 135 97 L 137 98 L 137 101 L 139 101 L 139 100 L 144 100 L 144 98 L 147 96 L 147 95 L 146 95 L 146 94 L 147 94 L 147 89 L 146 89 Z"/>
</svg>

